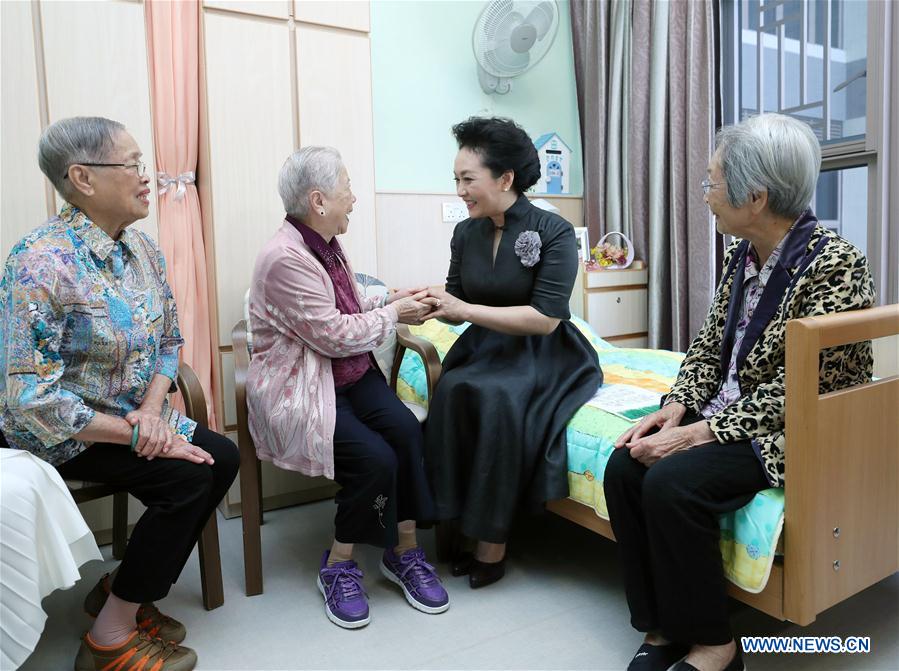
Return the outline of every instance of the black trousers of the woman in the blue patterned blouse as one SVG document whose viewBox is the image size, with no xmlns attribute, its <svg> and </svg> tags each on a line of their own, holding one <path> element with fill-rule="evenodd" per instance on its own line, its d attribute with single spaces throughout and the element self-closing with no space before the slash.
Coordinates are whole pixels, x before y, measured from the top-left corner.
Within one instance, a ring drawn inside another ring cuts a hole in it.
<svg viewBox="0 0 899 671">
<path fill-rule="evenodd" d="M 168 594 L 237 475 L 240 457 L 230 440 L 198 426 L 191 442 L 209 452 L 215 463 L 147 461 L 127 445 L 95 443 L 57 466 L 63 478 L 115 485 L 147 506 L 112 584 L 112 593 L 120 599 L 144 603 Z"/>
</svg>

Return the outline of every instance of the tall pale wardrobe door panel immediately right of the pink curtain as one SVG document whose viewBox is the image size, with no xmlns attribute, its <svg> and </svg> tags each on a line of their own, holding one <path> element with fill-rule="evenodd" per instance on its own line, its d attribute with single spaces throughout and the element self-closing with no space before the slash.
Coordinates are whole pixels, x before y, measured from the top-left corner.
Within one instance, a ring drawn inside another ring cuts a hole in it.
<svg viewBox="0 0 899 671">
<path fill-rule="evenodd" d="M 230 345 L 256 256 L 284 220 L 278 171 L 294 149 L 290 33 L 286 23 L 206 12 L 205 44 L 218 331 Z"/>
</svg>

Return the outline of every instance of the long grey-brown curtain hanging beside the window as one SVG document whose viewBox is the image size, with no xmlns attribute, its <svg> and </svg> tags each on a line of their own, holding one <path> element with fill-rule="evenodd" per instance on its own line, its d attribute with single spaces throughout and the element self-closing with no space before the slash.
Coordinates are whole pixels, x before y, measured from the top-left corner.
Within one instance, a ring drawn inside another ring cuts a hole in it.
<svg viewBox="0 0 899 671">
<path fill-rule="evenodd" d="M 700 182 L 714 148 L 716 3 L 572 0 L 584 216 L 649 264 L 649 344 L 685 350 L 714 292 Z"/>
</svg>

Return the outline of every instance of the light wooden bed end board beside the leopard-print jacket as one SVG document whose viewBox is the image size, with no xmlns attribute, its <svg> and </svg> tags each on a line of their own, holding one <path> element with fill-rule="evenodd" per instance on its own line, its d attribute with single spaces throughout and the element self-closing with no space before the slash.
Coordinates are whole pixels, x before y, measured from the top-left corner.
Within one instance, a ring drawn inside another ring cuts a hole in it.
<svg viewBox="0 0 899 671">
<path fill-rule="evenodd" d="M 818 393 L 820 352 L 899 334 L 899 305 L 792 320 L 784 611 L 805 625 L 899 571 L 899 377 Z"/>
</svg>

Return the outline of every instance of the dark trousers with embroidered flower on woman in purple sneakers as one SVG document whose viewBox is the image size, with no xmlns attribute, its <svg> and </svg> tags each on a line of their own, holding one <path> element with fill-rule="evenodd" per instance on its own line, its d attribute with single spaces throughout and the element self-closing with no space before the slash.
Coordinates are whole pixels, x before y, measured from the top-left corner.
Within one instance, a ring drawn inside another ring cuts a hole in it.
<svg viewBox="0 0 899 671">
<path fill-rule="evenodd" d="M 336 406 L 334 537 L 393 547 L 397 522 L 434 518 L 421 426 L 374 369 L 337 389 Z"/>
</svg>

